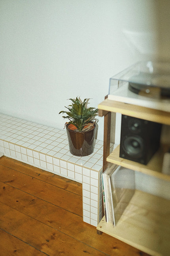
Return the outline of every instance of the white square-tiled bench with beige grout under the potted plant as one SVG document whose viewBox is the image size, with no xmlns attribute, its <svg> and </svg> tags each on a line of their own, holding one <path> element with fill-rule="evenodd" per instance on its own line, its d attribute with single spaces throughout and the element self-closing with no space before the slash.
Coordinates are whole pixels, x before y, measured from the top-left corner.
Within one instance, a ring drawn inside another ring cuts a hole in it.
<svg viewBox="0 0 170 256">
<path fill-rule="evenodd" d="M 0 152 L 82 183 L 83 221 L 97 226 L 102 216 L 103 141 L 95 141 L 91 155 L 73 156 L 65 130 L 0 114 Z"/>
</svg>

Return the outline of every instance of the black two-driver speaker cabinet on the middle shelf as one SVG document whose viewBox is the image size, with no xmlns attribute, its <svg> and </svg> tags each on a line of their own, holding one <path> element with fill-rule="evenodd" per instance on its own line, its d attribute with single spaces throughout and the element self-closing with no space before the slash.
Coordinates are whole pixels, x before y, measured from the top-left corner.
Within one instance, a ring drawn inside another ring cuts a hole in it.
<svg viewBox="0 0 170 256">
<path fill-rule="evenodd" d="M 160 123 L 122 115 L 120 157 L 147 164 L 158 150 Z"/>
</svg>

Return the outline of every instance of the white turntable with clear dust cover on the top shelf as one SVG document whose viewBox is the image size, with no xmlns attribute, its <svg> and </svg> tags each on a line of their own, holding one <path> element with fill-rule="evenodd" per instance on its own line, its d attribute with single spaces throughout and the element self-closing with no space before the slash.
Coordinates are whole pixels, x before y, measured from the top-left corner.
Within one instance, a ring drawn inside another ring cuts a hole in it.
<svg viewBox="0 0 170 256">
<path fill-rule="evenodd" d="M 110 78 L 109 100 L 170 112 L 170 63 L 138 62 Z"/>
</svg>

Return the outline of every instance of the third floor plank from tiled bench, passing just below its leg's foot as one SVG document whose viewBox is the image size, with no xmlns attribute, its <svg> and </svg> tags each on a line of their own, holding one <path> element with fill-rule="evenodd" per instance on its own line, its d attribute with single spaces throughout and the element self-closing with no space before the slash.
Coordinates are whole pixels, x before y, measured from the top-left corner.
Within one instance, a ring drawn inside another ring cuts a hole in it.
<svg viewBox="0 0 170 256">
<path fill-rule="evenodd" d="M 97 235 L 96 228 L 83 222 L 80 216 L 1 182 L 0 201 L 108 255 L 139 255 L 138 250 L 117 239 L 104 233 Z"/>
</svg>

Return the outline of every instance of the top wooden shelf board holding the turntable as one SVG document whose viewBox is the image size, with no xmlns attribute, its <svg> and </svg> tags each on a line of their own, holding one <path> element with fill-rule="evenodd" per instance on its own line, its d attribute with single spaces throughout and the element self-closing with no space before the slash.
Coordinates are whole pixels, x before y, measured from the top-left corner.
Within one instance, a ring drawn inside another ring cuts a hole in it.
<svg viewBox="0 0 170 256">
<path fill-rule="evenodd" d="M 98 109 L 170 125 L 170 112 L 162 110 L 117 102 L 108 98 L 98 105 Z"/>
</svg>

